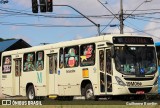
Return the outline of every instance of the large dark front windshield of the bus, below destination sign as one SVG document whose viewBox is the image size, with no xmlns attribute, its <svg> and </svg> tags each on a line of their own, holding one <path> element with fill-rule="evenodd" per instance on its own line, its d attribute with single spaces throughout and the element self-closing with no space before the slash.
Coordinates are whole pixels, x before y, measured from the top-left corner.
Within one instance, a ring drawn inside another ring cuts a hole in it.
<svg viewBox="0 0 160 108">
<path fill-rule="evenodd" d="M 154 74 L 156 54 L 154 47 L 148 46 L 116 46 L 115 66 L 118 72 L 127 75 Z"/>
</svg>

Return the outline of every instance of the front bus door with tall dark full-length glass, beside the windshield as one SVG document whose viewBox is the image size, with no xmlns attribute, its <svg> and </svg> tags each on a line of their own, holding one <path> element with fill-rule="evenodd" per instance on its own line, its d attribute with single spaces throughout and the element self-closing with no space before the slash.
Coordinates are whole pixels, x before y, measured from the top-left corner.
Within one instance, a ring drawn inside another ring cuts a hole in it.
<svg viewBox="0 0 160 108">
<path fill-rule="evenodd" d="M 111 50 L 99 49 L 100 92 L 112 92 L 112 62 Z"/>
</svg>

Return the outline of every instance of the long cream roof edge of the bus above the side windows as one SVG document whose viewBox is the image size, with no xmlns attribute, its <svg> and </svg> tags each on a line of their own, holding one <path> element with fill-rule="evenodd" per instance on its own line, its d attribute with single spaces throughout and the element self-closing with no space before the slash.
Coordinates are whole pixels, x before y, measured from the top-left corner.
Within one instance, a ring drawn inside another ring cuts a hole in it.
<svg viewBox="0 0 160 108">
<path fill-rule="evenodd" d="M 131 34 L 110 34 L 110 35 L 101 35 L 101 36 L 95 36 L 95 37 L 89 37 L 89 38 L 83 38 L 78 40 L 71 40 L 71 41 L 64 41 L 64 42 L 58 42 L 53 44 L 47 44 L 47 45 L 39 45 L 34 46 L 30 48 L 24 48 L 24 49 L 18 49 L 18 50 L 12 50 L 12 51 L 6 51 L 3 52 L 3 54 L 16 54 L 18 53 L 24 53 L 24 52 L 31 52 L 31 51 L 38 51 L 38 50 L 45 50 L 45 49 L 53 49 L 53 48 L 60 48 L 60 47 L 67 47 L 67 46 L 73 46 L 73 45 L 79 45 L 79 44 L 87 44 L 87 43 L 93 43 L 93 42 L 102 42 L 102 41 L 108 41 L 112 43 L 112 38 L 114 36 L 134 36 L 134 37 L 149 37 L 149 36 L 142 36 L 142 35 L 131 35 Z M 54 38 L 53 38 L 54 39 Z"/>
</svg>

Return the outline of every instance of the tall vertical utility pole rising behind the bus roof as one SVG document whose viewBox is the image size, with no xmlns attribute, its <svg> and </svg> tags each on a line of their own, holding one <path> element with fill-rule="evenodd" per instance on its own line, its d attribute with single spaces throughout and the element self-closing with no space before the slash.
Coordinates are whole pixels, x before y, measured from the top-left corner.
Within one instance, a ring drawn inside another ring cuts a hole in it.
<svg viewBox="0 0 160 108">
<path fill-rule="evenodd" d="M 120 19 L 120 34 L 123 34 L 123 0 L 120 1 L 120 15 L 119 15 L 119 19 Z"/>
</svg>

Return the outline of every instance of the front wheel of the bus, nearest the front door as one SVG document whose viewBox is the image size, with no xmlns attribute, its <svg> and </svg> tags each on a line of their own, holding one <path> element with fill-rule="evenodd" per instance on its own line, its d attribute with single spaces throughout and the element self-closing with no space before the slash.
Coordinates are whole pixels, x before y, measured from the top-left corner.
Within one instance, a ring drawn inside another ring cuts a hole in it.
<svg viewBox="0 0 160 108">
<path fill-rule="evenodd" d="M 91 84 L 87 84 L 85 87 L 85 100 L 94 100 L 94 92 Z"/>
</svg>

